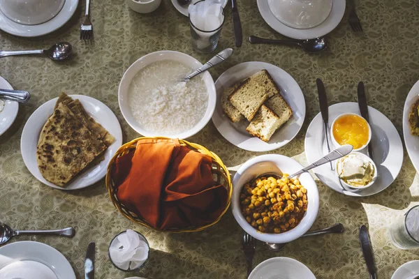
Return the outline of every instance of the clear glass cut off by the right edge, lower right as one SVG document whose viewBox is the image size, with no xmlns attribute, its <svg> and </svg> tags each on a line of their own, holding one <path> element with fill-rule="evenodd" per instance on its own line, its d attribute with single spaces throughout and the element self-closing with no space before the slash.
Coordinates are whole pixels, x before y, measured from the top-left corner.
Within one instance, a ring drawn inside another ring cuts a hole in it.
<svg viewBox="0 0 419 279">
<path fill-rule="evenodd" d="M 390 227 L 390 237 L 397 248 L 419 248 L 419 205 L 396 218 Z"/>
</svg>

